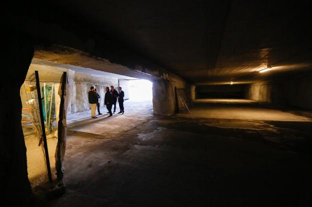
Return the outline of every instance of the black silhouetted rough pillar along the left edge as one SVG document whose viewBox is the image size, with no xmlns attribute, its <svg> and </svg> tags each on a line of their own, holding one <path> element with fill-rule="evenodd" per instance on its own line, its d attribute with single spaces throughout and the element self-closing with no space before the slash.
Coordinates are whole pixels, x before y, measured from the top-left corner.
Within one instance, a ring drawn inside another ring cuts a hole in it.
<svg viewBox="0 0 312 207">
<path fill-rule="evenodd" d="M 32 201 L 27 177 L 26 147 L 21 128 L 20 86 L 33 57 L 29 39 L 5 29 L 0 76 L 0 189 L 3 206 L 29 206 Z M 5 44 L 7 47 L 5 47 Z"/>
</svg>

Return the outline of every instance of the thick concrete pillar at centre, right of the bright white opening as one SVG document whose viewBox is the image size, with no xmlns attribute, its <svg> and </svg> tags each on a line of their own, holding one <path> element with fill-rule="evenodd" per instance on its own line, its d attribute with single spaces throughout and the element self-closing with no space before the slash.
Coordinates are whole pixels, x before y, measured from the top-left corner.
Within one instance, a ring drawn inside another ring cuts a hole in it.
<svg viewBox="0 0 312 207">
<path fill-rule="evenodd" d="M 153 110 L 156 115 L 173 115 L 175 110 L 174 87 L 169 80 L 153 80 Z"/>
</svg>

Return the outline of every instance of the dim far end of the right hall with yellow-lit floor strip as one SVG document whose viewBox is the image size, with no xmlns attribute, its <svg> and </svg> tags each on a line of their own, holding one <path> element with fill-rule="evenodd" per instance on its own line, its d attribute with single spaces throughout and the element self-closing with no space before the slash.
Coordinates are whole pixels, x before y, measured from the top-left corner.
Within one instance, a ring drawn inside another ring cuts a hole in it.
<svg viewBox="0 0 312 207">
<path fill-rule="evenodd" d="M 181 116 L 219 120 L 310 122 L 310 111 L 282 103 L 280 97 L 287 97 L 283 94 L 285 91 L 281 85 L 271 82 L 197 85 L 191 113 Z M 232 123 L 228 127 L 233 127 L 235 124 L 230 122 Z"/>
</svg>

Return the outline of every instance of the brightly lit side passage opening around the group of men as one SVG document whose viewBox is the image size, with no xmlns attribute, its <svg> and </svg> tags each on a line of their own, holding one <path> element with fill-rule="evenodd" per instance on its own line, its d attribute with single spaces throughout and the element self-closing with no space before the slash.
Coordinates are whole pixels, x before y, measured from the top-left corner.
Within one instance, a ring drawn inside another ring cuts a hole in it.
<svg viewBox="0 0 312 207">
<path fill-rule="evenodd" d="M 44 184 L 47 181 L 44 150 L 41 147 L 42 145 L 39 146 L 39 137 L 37 136 L 33 125 L 33 114 L 31 111 L 33 108 L 29 107 L 29 102 L 33 101 L 34 97 L 29 98 L 29 86 L 26 84 L 34 71 L 38 71 L 39 74 L 44 125 L 47 135 L 48 155 L 53 180 L 56 179 L 54 174 L 54 154 L 57 145 L 56 117 L 58 116 L 59 110 L 58 90 L 60 78 L 64 71 L 72 82 L 68 94 L 69 104 L 66 114 L 66 123 L 69 134 L 71 132 L 80 132 L 94 135 L 100 134 L 102 137 L 109 137 L 109 131 L 111 129 L 110 125 L 118 127 L 120 123 L 122 123 L 128 127 L 134 127 L 134 125 L 139 122 L 132 122 L 131 116 L 140 115 L 140 121 L 143 121 L 152 115 L 152 83 L 148 80 L 33 58 L 25 82 L 20 87 L 20 98 L 22 103 L 21 125 L 27 149 L 26 158 L 28 179 L 32 188 Z M 97 93 L 100 97 L 98 99 L 99 107 L 96 111 L 98 119 L 96 120 L 90 118 L 91 112 L 90 104 L 88 102 L 88 91 L 90 90 L 90 86 L 97 89 Z M 123 113 L 118 113 L 121 109 L 118 105 L 118 98 L 116 98 L 117 101 L 115 105 L 112 105 L 113 116 L 108 119 L 104 97 L 105 87 L 110 88 L 111 86 L 113 86 L 115 90 L 118 90 L 118 87 L 122 88 L 121 90 L 124 92 L 123 106 L 125 113 L 124 115 Z M 114 107 L 115 111 L 113 111 Z M 49 115 L 51 117 L 47 118 Z M 98 127 L 97 124 L 101 127 Z"/>
</svg>

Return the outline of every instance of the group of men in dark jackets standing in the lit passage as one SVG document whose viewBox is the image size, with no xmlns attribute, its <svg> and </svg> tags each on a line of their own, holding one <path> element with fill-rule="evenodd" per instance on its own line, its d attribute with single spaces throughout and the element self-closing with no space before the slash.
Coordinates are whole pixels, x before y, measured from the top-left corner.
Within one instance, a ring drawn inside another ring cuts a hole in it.
<svg viewBox="0 0 312 207">
<path fill-rule="evenodd" d="M 115 113 L 117 100 L 118 100 L 119 109 L 120 109 L 118 114 L 124 113 L 123 97 L 124 97 L 124 92 L 122 91 L 121 87 L 118 87 L 118 91 L 116 91 L 113 86 L 110 86 L 110 90 L 109 90 L 109 87 L 105 88 L 104 104 L 106 105 L 106 108 L 108 110 L 107 113 L 109 114 L 109 116 L 112 116 L 112 114 Z M 98 115 L 101 115 L 99 111 L 99 102 L 98 102 L 99 98 L 100 96 L 96 92 L 96 88 L 91 86 L 90 91 L 88 92 L 88 99 L 91 105 L 91 118 L 93 119 L 97 118 L 95 116 L 96 107 L 97 107 Z M 111 112 L 112 105 L 114 105 L 113 113 Z"/>
</svg>

